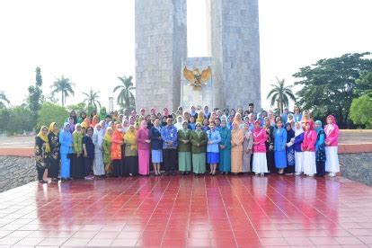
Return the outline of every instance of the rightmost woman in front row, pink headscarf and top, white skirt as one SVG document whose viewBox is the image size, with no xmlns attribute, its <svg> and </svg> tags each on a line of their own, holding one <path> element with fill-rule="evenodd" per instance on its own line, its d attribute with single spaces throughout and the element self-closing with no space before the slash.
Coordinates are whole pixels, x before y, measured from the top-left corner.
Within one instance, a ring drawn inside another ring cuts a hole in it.
<svg viewBox="0 0 372 248">
<path fill-rule="evenodd" d="M 339 135 L 340 130 L 337 126 L 336 119 L 329 115 L 327 117 L 327 125 L 324 127 L 325 131 L 325 171 L 329 176 L 336 176 L 340 172 L 340 163 L 338 155 Z"/>
</svg>

